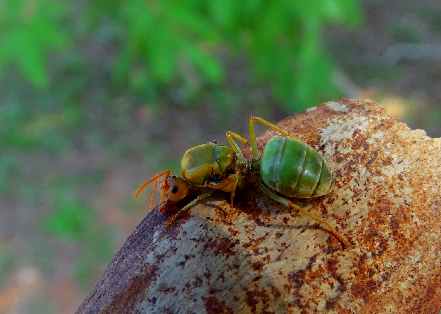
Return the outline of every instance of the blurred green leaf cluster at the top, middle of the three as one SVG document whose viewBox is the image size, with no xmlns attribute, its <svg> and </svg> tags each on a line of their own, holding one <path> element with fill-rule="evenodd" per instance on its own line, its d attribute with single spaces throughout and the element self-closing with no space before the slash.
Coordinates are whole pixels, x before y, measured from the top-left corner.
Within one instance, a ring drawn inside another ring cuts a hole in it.
<svg viewBox="0 0 441 314">
<path fill-rule="evenodd" d="M 220 82 L 223 67 L 204 43 L 218 41 L 197 1 L 130 0 L 121 7 L 121 22 L 127 35 L 116 75 L 124 76 L 137 61 L 159 84 L 169 84 L 179 75 L 179 59 L 186 59 L 207 82 Z"/>
</svg>

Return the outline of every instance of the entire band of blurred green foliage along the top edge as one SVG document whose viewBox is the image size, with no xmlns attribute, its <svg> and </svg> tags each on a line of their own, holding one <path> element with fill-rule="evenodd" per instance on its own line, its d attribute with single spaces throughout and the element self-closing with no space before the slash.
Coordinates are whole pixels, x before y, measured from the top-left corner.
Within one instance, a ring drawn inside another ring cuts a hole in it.
<svg viewBox="0 0 441 314">
<path fill-rule="evenodd" d="M 174 87 L 191 102 L 221 88 L 227 61 L 245 55 L 255 81 L 295 111 L 336 95 L 323 27 L 361 22 L 357 0 L 4 0 L 0 71 L 15 64 L 34 86 L 48 86 L 48 52 L 95 34 L 116 48 L 116 84 L 148 99 Z"/>
</svg>

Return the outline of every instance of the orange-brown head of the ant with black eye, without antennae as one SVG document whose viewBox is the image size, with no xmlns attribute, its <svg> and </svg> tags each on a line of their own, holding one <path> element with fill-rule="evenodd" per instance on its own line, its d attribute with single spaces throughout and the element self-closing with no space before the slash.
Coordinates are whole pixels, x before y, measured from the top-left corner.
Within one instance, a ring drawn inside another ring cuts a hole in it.
<svg viewBox="0 0 441 314">
<path fill-rule="evenodd" d="M 180 176 L 170 174 L 161 182 L 161 204 L 159 211 L 162 212 L 167 206 L 175 204 L 187 196 L 190 187 Z"/>
</svg>

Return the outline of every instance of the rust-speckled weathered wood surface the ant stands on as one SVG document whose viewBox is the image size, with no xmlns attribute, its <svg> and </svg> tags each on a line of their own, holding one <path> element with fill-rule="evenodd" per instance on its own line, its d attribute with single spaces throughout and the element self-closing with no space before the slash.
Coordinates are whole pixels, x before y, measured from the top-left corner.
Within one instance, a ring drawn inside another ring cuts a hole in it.
<svg viewBox="0 0 441 314">
<path fill-rule="evenodd" d="M 171 228 L 172 213 L 150 213 L 76 313 L 437 314 L 440 139 L 369 100 L 330 101 L 278 126 L 318 134 L 308 144 L 336 187 L 294 201 L 326 217 L 351 247 L 253 187 L 237 194 L 229 223 L 228 194 L 218 192 Z M 259 152 L 276 136 L 259 135 Z M 243 152 L 251 157 L 249 145 Z"/>
</svg>

